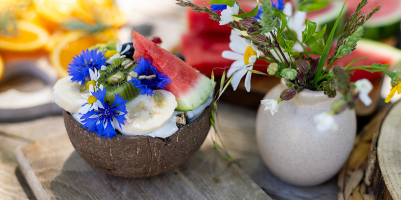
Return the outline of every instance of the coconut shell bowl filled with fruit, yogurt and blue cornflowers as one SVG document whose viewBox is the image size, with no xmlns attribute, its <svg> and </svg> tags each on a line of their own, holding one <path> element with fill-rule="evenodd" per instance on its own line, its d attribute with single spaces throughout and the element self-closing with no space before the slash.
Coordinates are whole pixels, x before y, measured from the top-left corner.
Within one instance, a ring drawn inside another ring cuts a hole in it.
<svg viewBox="0 0 401 200">
<path fill-rule="evenodd" d="M 203 143 L 213 83 L 141 34 L 132 36 L 73 57 L 54 98 L 86 161 L 109 174 L 146 177 L 176 167 Z"/>
</svg>

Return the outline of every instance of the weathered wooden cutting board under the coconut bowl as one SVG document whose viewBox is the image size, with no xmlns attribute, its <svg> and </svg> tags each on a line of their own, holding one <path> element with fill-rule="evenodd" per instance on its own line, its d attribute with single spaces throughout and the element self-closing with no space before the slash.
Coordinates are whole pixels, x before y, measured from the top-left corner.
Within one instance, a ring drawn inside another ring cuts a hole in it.
<svg viewBox="0 0 401 200">
<path fill-rule="evenodd" d="M 91 167 L 67 133 L 32 142 L 16 155 L 38 199 L 271 199 L 212 145 L 170 172 L 138 179 Z"/>
</svg>

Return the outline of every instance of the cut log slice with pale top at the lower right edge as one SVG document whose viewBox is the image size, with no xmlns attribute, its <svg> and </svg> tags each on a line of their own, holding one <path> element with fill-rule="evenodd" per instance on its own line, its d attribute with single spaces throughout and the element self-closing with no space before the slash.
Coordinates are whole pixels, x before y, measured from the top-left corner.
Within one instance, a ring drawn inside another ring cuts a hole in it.
<svg viewBox="0 0 401 200">
<path fill-rule="evenodd" d="M 380 192 L 378 189 L 381 189 L 381 199 L 401 199 L 400 112 L 401 101 L 397 101 L 387 112 L 380 126 L 377 141 L 378 167 L 373 191 Z"/>
</svg>

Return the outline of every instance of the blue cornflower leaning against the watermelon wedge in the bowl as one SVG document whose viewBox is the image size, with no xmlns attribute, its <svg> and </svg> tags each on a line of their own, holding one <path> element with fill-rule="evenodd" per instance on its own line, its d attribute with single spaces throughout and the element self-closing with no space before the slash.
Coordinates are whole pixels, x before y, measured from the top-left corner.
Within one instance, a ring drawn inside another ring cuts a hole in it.
<svg viewBox="0 0 401 200">
<path fill-rule="evenodd" d="M 154 95 L 153 90 L 157 88 L 164 88 L 166 84 L 172 82 L 167 74 L 159 72 L 156 67 L 150 64 L 150 59 L 136 58 L 138 65 L 134 68 L 134 71 L 138 73 L 138 78 L 132 78 L 129 82 L 133 83 L 139 89 L 139 93 L 142 95 Z M 139 79 L 139 76 L 145 75 L 150 78 Z"/>
</svg>

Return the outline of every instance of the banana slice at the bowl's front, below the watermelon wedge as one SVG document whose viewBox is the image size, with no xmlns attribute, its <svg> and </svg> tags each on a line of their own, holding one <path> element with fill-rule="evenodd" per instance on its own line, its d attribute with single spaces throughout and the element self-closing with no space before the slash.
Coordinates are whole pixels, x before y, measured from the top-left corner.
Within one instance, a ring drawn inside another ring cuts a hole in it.
<svg viewBox="0 0 401 200">
<path fill-rule="evenodd" d="M 125 115 L 127 119 L 125 124 L 120 128 L 124 135 L 147 134 L 159 129 L 165 124 L 177 107 L 177 101 L 174 94 L 169 91 L 158 89 L 163 94 L 163 100 L 157 102 L 155 96 L 138 95 L 131 101 L 127 102 L 126 108 L 128 113 Z"/>
</svg>

